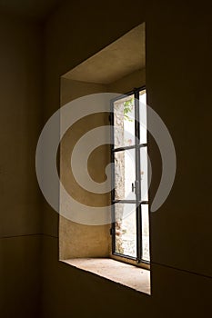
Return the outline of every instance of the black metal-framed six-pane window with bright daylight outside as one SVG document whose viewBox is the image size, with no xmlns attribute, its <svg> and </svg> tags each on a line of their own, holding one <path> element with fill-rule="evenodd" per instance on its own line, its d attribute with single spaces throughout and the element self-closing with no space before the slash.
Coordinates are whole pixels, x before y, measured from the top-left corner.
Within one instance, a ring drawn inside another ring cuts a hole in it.
<svg viewBox="0 0 212 318">
<path fill-rule="evenodd" d="M 111 102 L 112 254 L 149 263 L 146 89 Z"/>
</svg>

